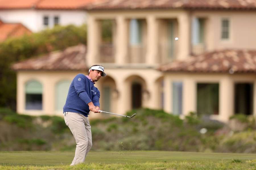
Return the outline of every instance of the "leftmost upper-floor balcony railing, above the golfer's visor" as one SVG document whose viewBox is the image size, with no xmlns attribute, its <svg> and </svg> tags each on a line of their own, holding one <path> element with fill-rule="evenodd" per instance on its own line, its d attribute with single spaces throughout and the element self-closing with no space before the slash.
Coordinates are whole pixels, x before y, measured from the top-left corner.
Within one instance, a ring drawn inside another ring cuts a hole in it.
<svg viewBox="0 0 256 170">
<path fill-rule="evenodd" d="M 115 62 L 115 48 L 113 44 L 100 44 L 99 57 L 101 63 L 114 63 Z"/>
</svg>

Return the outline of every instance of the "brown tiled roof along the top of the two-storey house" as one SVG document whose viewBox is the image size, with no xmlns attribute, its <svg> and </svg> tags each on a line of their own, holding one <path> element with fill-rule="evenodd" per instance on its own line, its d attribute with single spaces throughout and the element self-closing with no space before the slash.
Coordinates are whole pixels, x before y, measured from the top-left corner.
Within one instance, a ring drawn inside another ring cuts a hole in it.
<svg viewBox="0 0 256 170">
<path fill-rule="evenodd" d="M 96 0 L 85 6 L 99 9 L 211 8 L 256 9 L 256 0 Z"/>
</svg>

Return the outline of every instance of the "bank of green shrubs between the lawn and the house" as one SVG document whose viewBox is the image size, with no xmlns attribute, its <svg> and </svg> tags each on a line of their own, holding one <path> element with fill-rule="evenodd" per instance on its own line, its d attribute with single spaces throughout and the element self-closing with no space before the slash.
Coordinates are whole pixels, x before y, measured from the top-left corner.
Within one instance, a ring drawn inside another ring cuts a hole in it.
<svg viewBox="0 0 256 170">
<path fill-rule="evenodd" d="M 137 109 L 134 118 L 90 120 L 92 150 L 173 150 L 256 153 L 255 121 L 232 131 L 229 124 L 191 113 L 181 120 L 162 110 Z M 232 120 L 231 120 L 232 121 Z M 0 150 L 75 150 L 75 139 L 63 117 L 28 116 L 0 108 Z M 206 133 L 201 129 L 206 128 Z"/>
</svg>

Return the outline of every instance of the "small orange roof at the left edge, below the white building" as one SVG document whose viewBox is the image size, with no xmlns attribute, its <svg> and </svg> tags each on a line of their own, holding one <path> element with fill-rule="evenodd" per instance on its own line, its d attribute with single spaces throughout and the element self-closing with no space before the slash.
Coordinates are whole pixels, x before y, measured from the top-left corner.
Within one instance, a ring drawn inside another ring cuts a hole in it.
<svg viewBox="0 0 256 170">
<path fill-rule="evenodd" d="M 0 41 L 9 37 L 19 37 L 24 34 L 30 34 L 31 31 L 20 23 L 3 23 L 0 22 Z"/>
</svg>

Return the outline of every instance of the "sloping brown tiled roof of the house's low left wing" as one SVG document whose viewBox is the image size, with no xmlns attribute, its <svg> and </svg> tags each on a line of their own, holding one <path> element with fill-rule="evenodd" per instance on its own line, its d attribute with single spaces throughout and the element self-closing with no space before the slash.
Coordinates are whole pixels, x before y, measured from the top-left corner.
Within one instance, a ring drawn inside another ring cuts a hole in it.
<svg viewBox="0 0 256 170">
<path fill-rule="evenodd" d="M 12 65 L 12 69 L 44 70 L 44 71 L 70 71 L 88 70 L 85 62 L 86 46 L 83 44 L 66 48 L 63 51 L 51 52 L 39 58 L 31 58 Z"/>
</svg>

